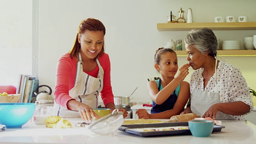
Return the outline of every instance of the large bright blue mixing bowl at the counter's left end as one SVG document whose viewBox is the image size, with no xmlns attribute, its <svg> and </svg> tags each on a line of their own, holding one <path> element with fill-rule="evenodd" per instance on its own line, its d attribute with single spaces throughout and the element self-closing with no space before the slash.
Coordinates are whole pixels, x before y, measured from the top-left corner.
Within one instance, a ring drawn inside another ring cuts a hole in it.
<svg viewBox="0 0 256 144">
<path fill-rule="evenodd" d="M 0 124 L 20 128 L 32 118 L 35 110 L 34 103 L 0 103 Z"/>
</svg>

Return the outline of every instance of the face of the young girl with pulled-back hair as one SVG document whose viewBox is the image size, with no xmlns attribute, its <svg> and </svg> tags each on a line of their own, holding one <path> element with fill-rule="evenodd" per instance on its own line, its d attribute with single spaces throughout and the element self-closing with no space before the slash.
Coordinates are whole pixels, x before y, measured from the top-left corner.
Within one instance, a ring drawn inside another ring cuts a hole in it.
<svg viewBox="0 0 256 144">
<path fill-rule="evenodd" d="M 174 77 L 178 70 L 178 59 L 174 52 L 165 52 L 156 69 L 164 76 Z"/>
</svg>

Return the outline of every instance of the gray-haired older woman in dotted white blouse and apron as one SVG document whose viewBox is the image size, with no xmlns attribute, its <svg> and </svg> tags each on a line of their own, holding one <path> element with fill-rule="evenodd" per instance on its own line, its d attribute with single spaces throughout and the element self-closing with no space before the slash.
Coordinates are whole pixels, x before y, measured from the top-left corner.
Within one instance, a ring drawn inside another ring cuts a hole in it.
<svg viewBox="0 0 256 144">
<path fill-rule="evenodd" d="M 214 120 L 244 120 L 253 111 L 246 80 L 235 66 L 217 56 L 217 39 L 209 28 L 192 30 L 185 38 L 190 100 L 181 114 L 196 113 Z"/>
</svg>

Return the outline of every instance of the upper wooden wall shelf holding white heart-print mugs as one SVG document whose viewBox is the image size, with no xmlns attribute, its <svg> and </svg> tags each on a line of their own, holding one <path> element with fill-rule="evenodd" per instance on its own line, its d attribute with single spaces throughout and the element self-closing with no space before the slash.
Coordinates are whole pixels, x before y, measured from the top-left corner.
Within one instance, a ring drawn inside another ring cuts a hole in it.
<svg viewBox="0 0 256 144">
<path fill-rule="evenodd" d="M 256 30 L 256 22 L 202 22 L 202 23 L 162 23 L 158 31 L 189 31 L 195 28 L 212 30 Z"/>
</svg>

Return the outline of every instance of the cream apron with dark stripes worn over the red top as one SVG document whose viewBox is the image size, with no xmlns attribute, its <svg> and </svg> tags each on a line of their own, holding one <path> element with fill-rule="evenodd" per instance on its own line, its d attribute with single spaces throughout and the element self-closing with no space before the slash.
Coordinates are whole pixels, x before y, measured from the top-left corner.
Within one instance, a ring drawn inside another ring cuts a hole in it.
<svg viewBox="0 0 256 144">
<path fill-rule="evenodd" d="M 103 76 L 104 70 L 100 65 L 98 59 L 96 62 L 99 66 L 99 72 L 97 78 L 90 76 L 83 72 L 83 62 L 81 54 L 79 52 L 79 61 L 77 62 L 76 68 L 76 80 L 74 88 L 69 91 L 69 95 L 76 99 L 78 102 L 82 102 L 91 108 L 98 107 L 98 96 L 103 88 Z M 66 108 L 54 103 L 53 114 L 55 116 L 62 116 L 64 118 L 80 118 L 78 111 L 67 110 Z"/>
</svg>

